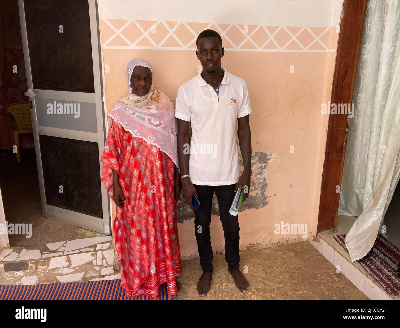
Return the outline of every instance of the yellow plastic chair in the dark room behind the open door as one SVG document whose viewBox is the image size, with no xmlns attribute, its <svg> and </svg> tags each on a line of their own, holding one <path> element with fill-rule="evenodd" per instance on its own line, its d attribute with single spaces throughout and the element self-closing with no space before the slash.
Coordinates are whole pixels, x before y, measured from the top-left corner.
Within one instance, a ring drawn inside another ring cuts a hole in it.
<svg viewBox="0 0 400 328">
<path fill-rule="evenodd" d="M 13 145 L 17 146 L 17 161 L 21 161 L 19 135 L 21 133 L 32 133 L 32 119 L 30 117 L 29 103 L 15 103 L 6 106 L 4 113 L 7 117 L 8 129 Z"/>
</svg>

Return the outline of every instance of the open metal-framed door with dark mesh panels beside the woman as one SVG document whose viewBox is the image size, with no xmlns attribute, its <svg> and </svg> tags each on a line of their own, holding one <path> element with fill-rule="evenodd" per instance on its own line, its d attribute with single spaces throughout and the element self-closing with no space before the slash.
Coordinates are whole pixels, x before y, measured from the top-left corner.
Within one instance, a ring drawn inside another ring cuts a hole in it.
<svg viewBox="0 0 400 328">
<path fill-rule="evenodd" d="M 95 0 L 18 0 L 43 215 L 110 234 Z"/>
</svg>

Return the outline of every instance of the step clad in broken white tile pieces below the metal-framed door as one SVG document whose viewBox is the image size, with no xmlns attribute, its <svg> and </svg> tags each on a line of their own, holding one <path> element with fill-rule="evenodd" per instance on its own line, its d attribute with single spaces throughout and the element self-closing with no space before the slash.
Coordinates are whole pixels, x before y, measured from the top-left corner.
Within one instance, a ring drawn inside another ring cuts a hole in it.
<svg viewBox="0 0 400 328">
<path fill-rule="evenodd" d="M 120 279 L 114 272 L 112 236 L 81 238 L 0 252 L 0 284 Z"/>
</svg>

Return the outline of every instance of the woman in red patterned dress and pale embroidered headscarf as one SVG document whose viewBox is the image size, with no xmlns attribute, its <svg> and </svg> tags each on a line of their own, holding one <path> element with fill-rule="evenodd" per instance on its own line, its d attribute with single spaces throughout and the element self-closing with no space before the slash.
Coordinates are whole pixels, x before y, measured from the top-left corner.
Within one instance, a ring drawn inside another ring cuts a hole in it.
<svg viewBox="0 0 400 328">
<path fill-rule="evenodd" d="M 170 99 L 153 85 L 149 62 L 128 63 L 129 95 L 108 114 L 102 181 L 117 205 L 113 224 L 127 297 L 176 295 L 182 272 L 176 204 L 181 191 L 177 125 Z"/>
</svg>

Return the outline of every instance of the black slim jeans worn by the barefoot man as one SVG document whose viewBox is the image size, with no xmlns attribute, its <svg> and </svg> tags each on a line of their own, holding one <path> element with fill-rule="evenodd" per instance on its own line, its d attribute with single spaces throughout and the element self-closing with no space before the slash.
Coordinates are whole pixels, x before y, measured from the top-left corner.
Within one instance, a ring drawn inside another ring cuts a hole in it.
<svg viewBox="0 0 400 328">
<path fill-rule="evenodd" d="M 200 207 L 194 211 L 194 229 L 196 233 L 197 249 L 200 256 L 200 265 L 203 272 L 213 272 L 212 260 L 214 259 L 211 240 L 211 204 L 215 194 L 220 209 L 220 220 L 224 228 L 225 237 L 225 261 L 232 271 L 239 269 L 239 222 L 238 216 L 229 213 L 230 205 L 235 196 L 233 185 L 225 186 L 201 186 L 194 185 L 197 190 Z"/>
</svg>

